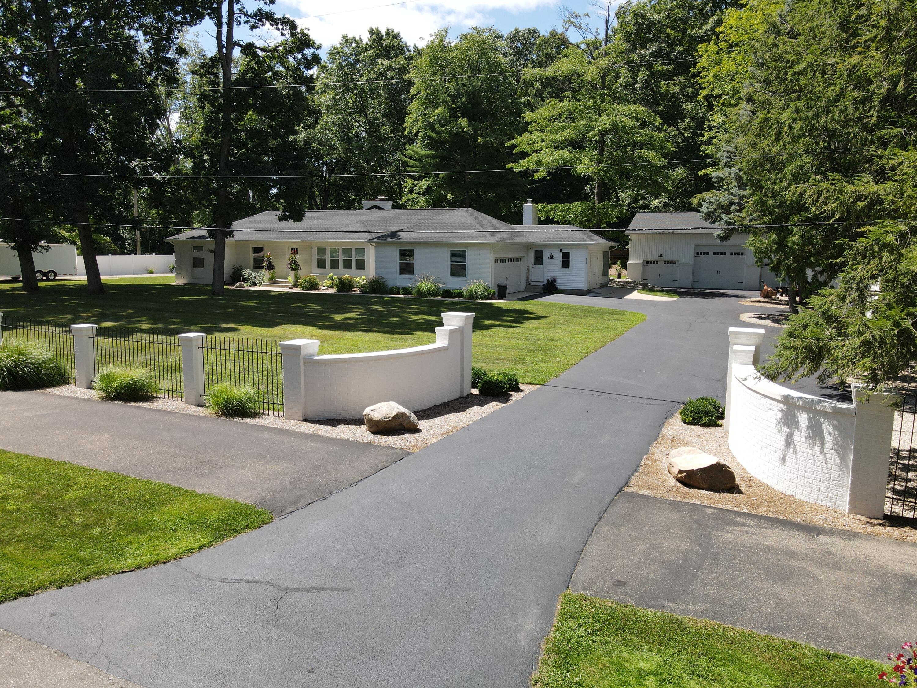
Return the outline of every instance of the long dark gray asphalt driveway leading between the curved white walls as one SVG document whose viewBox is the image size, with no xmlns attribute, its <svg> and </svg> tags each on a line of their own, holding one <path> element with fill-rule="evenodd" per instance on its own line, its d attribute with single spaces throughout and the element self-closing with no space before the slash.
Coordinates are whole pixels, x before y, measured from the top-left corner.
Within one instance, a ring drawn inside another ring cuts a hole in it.
<svg viewBox="0 0 917 688">
<path fill-rule="evenodd" d="M 525 686 L 614 494 L 680 402 L 724 394 L 747 295 L 626 302 L 645 323 L 470 427 L 220 547 L 0 605 L 0 627 L 151 688 Z"/>
</svg>

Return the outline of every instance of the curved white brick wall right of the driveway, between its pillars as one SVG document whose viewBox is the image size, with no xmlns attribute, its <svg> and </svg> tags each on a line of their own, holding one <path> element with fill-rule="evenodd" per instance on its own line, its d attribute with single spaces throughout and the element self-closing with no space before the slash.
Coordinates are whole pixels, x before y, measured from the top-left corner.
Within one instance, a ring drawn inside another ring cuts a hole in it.
<svg viewBox="0 0 917 688">
<path fill-rule="evenodd" d="M 847 510 L 856 407 L 801 394 L 734 364 L 729 449 L 780 492 Z"/>
</svg>

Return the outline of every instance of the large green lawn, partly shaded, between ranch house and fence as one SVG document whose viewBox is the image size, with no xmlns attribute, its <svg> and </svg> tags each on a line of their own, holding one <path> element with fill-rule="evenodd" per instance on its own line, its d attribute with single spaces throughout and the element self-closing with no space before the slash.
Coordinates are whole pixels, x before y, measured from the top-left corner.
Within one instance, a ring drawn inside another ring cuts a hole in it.
<svg viewBox="0 0 917 688">
<path fill-rule="evenodd" d="M 71 325 L 94 323 L 165 334 L 198 331 L 241 337 L 320 339 L 320 353 L 399 349 L 435 341 L 439 314 L 473 311 L 474 363 L 515 372 L 521 382 L 547 383 L 645 316 L 588 305 L 540 301 L 487 302 L 342 294 L 296 294 L 176 285 L 171 277 L 106 281 L 108 293 L 89 296 L 85 283 L 40 283 L 38 294 L 0 282 L 0 312 L 9 317 Z"/>
</svg>

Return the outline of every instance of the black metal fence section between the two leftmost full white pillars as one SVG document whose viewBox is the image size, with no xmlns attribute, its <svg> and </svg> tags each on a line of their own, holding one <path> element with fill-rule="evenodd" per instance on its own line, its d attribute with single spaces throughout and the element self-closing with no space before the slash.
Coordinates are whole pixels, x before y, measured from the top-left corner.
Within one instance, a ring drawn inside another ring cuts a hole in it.
<svg viewBox="0 0 917 688">
<path fill-rule="evenodd" d="M 95 369 L 102 371 L 108 366 L 146 368 L 156 383 L 157 396 L 183 398 L 182 346 L 177 337 L 98 327 L 95 331 Z"/>
</svg>

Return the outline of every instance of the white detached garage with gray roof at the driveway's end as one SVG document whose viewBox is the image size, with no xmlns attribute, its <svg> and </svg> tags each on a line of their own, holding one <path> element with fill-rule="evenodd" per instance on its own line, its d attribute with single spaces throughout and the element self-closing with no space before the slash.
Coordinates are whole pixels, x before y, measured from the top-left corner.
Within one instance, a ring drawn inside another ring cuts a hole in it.
<svg viewBox="0 0 917 688">
<path fill-rule="evenodd" d="M 720 242 L 717 231 L 700 213 L 637 213 L 627 227 L 627 276 L 658 287 L 759 290 L 762 272 L 772 275 L 755 264 L 748 235 Z"/>
</svg>

